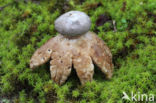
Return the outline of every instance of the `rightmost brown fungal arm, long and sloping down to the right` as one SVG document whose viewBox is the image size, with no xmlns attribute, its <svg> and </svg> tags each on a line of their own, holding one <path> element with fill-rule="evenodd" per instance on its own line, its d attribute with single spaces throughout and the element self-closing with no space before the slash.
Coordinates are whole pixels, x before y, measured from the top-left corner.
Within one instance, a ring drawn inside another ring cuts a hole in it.
<svg viewBox="0 0 156 103">
<path fill-rule="evenodd" d="M 91 45 L 91 57 L 95 64 L 106 74 L 107 78 L 111 78 L 113 74 L 112 54 L 103 40 L 97 35 L 93 35 Z"/>
</svg>

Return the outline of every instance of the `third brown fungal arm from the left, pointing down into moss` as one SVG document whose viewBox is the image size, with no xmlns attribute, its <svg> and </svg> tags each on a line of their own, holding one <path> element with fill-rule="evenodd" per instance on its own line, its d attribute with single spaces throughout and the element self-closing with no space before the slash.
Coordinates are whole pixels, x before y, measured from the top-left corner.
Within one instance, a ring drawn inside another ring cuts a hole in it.
<svg viewBox="0 0 156 103">
<path fill-rule="evenodd" d="M 89 55 L 82 52 L 75 55 L 73 57 L 73 64 L 82 85 L 87 81 L 92 81 L 94 65 Z"/>
</svg>

